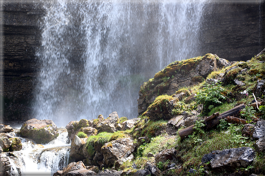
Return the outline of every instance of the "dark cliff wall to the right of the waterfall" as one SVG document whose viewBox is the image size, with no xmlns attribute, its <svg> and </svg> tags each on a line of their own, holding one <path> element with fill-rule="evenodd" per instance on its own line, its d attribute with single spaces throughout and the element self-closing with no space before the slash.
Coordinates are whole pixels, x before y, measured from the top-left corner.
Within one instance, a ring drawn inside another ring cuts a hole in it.
<svg viewBox="0 0 265 176">
<path fill-rule="evenodd" d="M 214 1 L 208 8 L 200 36 L 203 55 L 214 53 L 228 61 L 247 61 L 264 49 L 264 1 Z"/>
</svg>

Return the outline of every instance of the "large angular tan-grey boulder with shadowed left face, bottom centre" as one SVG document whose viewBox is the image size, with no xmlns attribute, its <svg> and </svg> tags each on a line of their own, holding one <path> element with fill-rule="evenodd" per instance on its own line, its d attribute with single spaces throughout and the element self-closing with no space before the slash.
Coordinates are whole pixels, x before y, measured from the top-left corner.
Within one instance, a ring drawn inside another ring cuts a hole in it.
<svg viewBox="0 0 265 176">
<path fill-rule="evenodd" d="M 127 152 L 135 149 L 134 140 L 131 138 L 120 138 L 104 144 L 101 151 L 108 166 L 113 166 L 118 159 L 123 158 Z"/>
</svg>

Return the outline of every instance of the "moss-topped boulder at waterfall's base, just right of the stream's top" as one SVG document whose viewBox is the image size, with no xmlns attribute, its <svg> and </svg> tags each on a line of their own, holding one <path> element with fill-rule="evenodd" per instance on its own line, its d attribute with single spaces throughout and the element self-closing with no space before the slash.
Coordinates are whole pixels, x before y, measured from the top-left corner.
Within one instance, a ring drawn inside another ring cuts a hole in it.
<svg viewBox="0 0 265 176">
<path fill-rule="evenodd" d="M 77 131 L 79 131 L 81 128 L 85 128 L 89 126 L 90 126 L 89 120 L 81 119 L 79 121 L 69 122 L 65 128 L 67 129 L 70 140 L 72 140 L 74 136 L 76 135 Z"/>
</svg>

